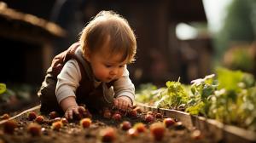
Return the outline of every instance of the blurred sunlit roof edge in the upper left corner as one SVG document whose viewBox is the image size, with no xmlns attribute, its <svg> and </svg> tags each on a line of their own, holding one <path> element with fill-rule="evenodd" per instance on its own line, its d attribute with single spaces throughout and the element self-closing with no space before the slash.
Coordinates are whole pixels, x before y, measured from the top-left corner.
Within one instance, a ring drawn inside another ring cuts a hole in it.
<svg viewBox="0 0 256 143">
<path fill-rule="evenodd" d="M 66 31 L 53 22 L 10 9 L 0 3 L 0 35 L 32 42 L 44 41 L 51 37 L 65 37 Z"/>
</svg>

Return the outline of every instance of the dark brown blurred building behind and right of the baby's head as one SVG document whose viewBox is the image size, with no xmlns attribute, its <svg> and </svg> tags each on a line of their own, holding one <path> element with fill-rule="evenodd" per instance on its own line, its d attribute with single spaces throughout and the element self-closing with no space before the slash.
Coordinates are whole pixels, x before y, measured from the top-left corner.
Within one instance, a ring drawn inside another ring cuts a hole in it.
<svg viewBox="0 0 256 143">
<path fill-rule="evenodd" d="M 91 4 L 92 5 L 92 4 Z M 212 44 L 208 35 L 180 40 L 179 23 L 207 23 L 201 0 L 94 1 L 96 12 L 113 9 L 125 16 L 137 34 L 137 61 L 130 66 L 136 84 L 183 83 L 211 73 Z M 92 9 L 92 8 L 90 8 Z"/>
</svg>

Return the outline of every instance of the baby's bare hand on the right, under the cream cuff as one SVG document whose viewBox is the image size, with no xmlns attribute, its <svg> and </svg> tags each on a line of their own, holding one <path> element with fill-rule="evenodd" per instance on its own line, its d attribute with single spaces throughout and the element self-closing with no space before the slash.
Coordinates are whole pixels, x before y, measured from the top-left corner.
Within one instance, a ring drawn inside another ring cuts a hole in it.
<svg viewBox="0 0 256 143">
<path fill-rule="evenodd" d="M 129 108 L 132 107 L 130 98 L 126 96 L 120 96 L 113 100 L 113 105 L 122 111 L 127 111 Z"/>
</svg>

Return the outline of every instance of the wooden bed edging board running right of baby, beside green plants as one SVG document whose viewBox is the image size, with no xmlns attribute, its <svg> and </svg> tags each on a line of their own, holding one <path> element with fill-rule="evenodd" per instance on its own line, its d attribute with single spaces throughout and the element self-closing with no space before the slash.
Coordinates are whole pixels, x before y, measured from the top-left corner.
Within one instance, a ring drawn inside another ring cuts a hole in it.
<svg viewBox="0 0 256 143">
<path fill-rule="evenodd" d="M 144 104 L 137 103 L 144 112 L 161 112 L 166 116 L 174 117 L 183 122 L 183 124 L 191 129 L 196 128 L 201 131 L 211 132 L 215 135 L 217 140 L 223 140 L 227 143 L 255 143 L 256 133 L 246 129 L 241 129 L 236 126 L 225 125 L 213 119 L 207 119 L 205 117 L 198 117 L 189 115 L 186 112 L 179 112 L 176 110 L 168 110 L 163 108 L 156 108 L 153 106 L 146 106 Z"/>
</svg>

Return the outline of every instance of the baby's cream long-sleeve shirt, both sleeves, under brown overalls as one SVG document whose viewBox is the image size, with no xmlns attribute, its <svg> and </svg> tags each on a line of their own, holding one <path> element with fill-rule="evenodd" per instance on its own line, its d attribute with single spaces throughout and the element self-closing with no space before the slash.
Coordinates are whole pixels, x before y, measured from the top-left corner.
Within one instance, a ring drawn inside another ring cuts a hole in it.
<svg viewBox="0 0 256 143">
<path fill-rule="evenodd" d="M 79 87 L 80 80 L 82 79 L 78 61 L 73 59 L 68 60 L 57 78 L 58 81 L 56 84 L 55 94 L 58 102 L 60 103 L 61 100 L 70 96 L 76 97 L 75 92 Z M 94 80 L 95 88 L 101 83 L 102 82 Z M 123 76 L 113 83 L 113 87 L 110 87 L 109 89 L 107 87 L 103 87 L 103 94 L 108 94 L 114 97 L 127 96 L 133 103 L 135 98 L 135 88 L 134 84 L 131 83 L 126 66 Z"/>
</svg>

